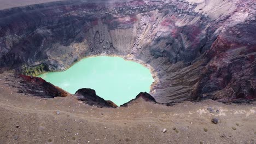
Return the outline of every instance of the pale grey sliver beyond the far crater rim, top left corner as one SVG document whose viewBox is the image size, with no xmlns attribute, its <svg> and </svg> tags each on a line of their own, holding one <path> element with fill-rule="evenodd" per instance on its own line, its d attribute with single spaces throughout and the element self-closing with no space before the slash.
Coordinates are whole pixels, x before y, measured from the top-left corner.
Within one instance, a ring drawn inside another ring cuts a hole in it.
<svg viewBox="0 0 256 144">
<path fill-rule="evenodd" d="M 26 5 L 55 2 L 55 1 L 65 1 L 65 0 L 0 0 L 0 10 L 8 9 L 14 7 L 22 7 Z"/>
</svg>

